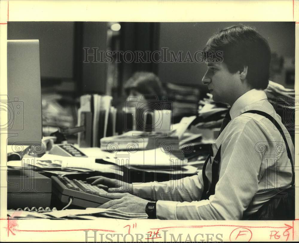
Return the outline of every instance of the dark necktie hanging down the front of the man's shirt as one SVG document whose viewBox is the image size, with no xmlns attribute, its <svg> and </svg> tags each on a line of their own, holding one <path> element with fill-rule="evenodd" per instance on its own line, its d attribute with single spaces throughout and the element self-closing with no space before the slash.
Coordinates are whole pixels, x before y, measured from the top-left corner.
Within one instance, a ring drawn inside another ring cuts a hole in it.
<svg viewBox="0 0 299 243">
<path fill-rule="evenodd" d="M 222 121 L 219 135 L 225 129 L 227 124 L 231 121 L 231 116 L 229 114 L 229 111 L 230 110 L 228 110 L 228 112 L 226 113 L 226 115 L 225 115 L 225 117 Z M 210 149 L 210 151 L 212 151 L 212 149 Z M 221 145 L 219 146 L 219 149 L 217 151 L 217 154 L 215 155 L 215 158 L 214 158 L 214 161 L 213 161 L 213 164 L 212 164 L 212 182 L 211 182 L 211 186 L 210 186 L 209 190 L 208 190 L 209 180 L 208 180 L 207 176 L 205 175 L 205 169 L 207 167 L 208 161 L 210 160 L 211 156 L 213 156 L 213 154 L 211 155 L 211 152 L 208 155 L 208 157 L 207 157 L 207 159 L 204 163 L 204 166 L 202 167 L 202 178 L 203 178 L 203 182 L 204 182 L 204 190 L 203 190 L 203 193 L 202 193 L 201 200 L 202 199 L 208 199 L 210 195 L 215 194 L 215 186 L 216 186 L 216 183 L 219 180 L 218 171 L 219 171 L 220 153 L 221 153 Z"/>
</svg>

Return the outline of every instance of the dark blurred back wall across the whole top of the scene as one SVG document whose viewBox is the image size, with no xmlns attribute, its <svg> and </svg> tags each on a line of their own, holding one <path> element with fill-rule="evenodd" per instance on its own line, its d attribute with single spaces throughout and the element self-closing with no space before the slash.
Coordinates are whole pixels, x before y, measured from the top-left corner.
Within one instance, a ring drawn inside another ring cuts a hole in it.
<svg viewBox="0 0 299 243">
<path fill-rule="evenodd" d="M 121 51 L 161 51 L 162 47 L 194 54 L 208 38 L 224 27 L 239 22 L 121 23 Z M 243 22 L 255 27 L 278 56 L 295 56 L 294 22 Z M 57 80 L 74 81 L 78 94 L 106 93 L 105 63 L 83 63 L 83 47 L 107 49 L 107 22 L 9 22 L 8 39 L 39 39 L 43 84 Z M 152 71 L 162 82 L 199 86 L 206 71 L 204 63 L 121 63 L 115 96 L 135 71 Z"/>
</svg>

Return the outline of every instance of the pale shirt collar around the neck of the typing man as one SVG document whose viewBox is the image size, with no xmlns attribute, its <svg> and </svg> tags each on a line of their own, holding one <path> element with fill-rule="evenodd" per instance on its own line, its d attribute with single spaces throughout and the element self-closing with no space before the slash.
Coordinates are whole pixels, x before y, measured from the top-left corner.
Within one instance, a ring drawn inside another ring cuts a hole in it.
<svg viewBox="0 0 299 243">
<path fill-rule="evenodd" d="M 231 110 L 229 111 L 231 119 L 234 119 L 235 117 L 239 116 L 246 110 L 249 110 L 250 105 L 252 103 L 255 103 L 259 100 L 265 100 L 265 99 L 267 99 L 267 95 L 263 90 L 251 89 L 247 91 L 245 94 L 240 96 L 235 101 L 235 103 L 231 106 Z"/>
</svg>

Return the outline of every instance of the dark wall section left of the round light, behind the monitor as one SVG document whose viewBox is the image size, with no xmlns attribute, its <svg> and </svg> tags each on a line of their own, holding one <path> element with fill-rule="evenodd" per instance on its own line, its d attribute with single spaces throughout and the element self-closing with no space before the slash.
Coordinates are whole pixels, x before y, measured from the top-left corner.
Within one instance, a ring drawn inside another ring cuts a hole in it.
<svg viewBox="0 0 299 243">
<path fill-rule="evenodd" d="M 83 63 L 83 47 L 106 50 L 106 22 L 9 22 L 7 39 L 39 39 L 42 86 L 106 93 L 106 63 Z"/>
</svg>

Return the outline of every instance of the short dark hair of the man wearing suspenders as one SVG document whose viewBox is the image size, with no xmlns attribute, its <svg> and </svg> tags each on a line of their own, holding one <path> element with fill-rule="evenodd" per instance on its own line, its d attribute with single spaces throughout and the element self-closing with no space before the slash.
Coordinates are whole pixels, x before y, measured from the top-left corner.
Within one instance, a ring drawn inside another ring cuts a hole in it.
<svg viewBox="0 0 299 243">
<path fill-rule="evenodd" d="M 231 73 L 248 66 L 246 79 L 252 88 L 265 89 L 269 83 L 271 50 L 268 42 L 254 28 L 237 25 L 220 30 L 210 37 L 204 48 L 207 53 L 222 51 L 223 62 Z"/>
</svg>

